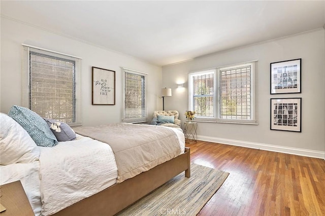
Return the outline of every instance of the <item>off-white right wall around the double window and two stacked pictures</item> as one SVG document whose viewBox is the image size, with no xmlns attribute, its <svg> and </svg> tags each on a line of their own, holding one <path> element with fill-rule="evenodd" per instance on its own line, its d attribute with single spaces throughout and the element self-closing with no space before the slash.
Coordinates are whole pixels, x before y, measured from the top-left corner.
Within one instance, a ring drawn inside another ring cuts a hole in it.
<svg viewBox="0 0 325 216">
<path fill-rule="evenodd" d="M 191 61 L 163 67 L 163 86 L 173 88 L 166 98 L 165 110 L 178 110 L 181 120 L 188 109 L 187 82 L 189 71 L 258 60 L 256 67 L 256 101 L 258 125 L 199 122 L 199 139 L 239 146 L 292 152 L 323 158 L 324 145 L 324 29 L 256 44 L 226 52 L 202 56 Z M 302 93 L 270 95 L 270 63 L 302 58 Z M 270 98 L 302 97 L 302 132 L 270 130 Z M 301 150 L 302 149 L 302 150 Z M 311 151 L 306 151 L 311 150 Z"/>
</svg>

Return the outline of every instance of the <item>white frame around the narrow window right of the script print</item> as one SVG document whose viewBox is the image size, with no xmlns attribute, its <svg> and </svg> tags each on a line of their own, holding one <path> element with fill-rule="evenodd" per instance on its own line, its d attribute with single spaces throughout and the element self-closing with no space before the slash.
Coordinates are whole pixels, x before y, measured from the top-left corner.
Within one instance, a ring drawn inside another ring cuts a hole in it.
<svg viewBox="0 0 325 216">
<path fill-rule="evenodd" d="M 133 70 L 133 69 L 128 69 L 122 67 L 122 122 L 125 123 L 143 123 L 143 122 L 148 122 L 148 106 L 147 106 L 147 80 L 148 80 L 148 74 L 143 73 L 141 71 Z M 125 97 L 126 97 L 126 85 L 125 85 L 125 79 L 126 79 L 126 74 L 133 74 L 136 76 L 141 76 L 144 79 L 144 94 L 142 96 L 143 102 L 143 108 L 142 108 L 142 117 L 140 118 L 127 118 L 125 115 L 126 112 L 126 107 L 125 107 Z"/>
</svg>

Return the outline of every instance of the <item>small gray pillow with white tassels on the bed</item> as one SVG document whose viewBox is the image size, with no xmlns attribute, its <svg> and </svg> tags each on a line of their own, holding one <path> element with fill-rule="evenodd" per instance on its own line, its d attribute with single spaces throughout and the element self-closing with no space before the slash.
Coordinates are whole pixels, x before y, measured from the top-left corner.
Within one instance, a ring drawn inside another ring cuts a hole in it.
<svg viewBox="0 0 325 216">
<path fill-rule="evenodd" d="M 76 138 L 75 131 L 66 123 L 47 118 L 44 118 L 44 120 L 52 130 L 57 141 L 70 141 Z"/>
</svg>

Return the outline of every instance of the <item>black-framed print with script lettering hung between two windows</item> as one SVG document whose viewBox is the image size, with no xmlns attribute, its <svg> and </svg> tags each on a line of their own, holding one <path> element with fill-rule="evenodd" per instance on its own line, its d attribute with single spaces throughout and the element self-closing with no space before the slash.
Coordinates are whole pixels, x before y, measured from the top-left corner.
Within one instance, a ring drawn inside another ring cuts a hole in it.
<svg viewBox="0 0 325 216">
<path fill-rule="evenodd" d="M 115 105 L 115 71 L 91 67 L 92 105 Z"/>
</svg>

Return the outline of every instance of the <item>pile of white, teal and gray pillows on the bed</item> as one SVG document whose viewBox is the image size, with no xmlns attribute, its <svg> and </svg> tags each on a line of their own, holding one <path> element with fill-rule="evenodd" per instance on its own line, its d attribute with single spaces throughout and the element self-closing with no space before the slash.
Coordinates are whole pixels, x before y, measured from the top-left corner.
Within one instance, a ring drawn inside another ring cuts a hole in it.
<svg viewBox="0 0 325 216">
<path fill-rule="evenodd" d="M 41 147 L 76 138 L 66 123 L 43 119 L 31 110 L 12 106 L 8 115 L 0 113 L 0 164 L 30 163 L 39 159 Z"/>
</svg>

